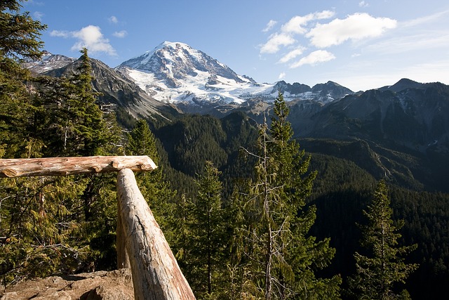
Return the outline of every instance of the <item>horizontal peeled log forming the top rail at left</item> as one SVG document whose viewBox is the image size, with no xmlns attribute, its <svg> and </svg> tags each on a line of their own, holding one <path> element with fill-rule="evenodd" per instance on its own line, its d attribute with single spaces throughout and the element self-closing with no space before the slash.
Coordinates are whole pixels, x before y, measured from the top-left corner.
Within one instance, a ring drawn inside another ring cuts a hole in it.
<svg viewBox="0 0 449 300">
<path fill-rule="evenodd" d="M 66 176 L 131 169 L 150 171 L 156 164 L 147 156 L 91 156 L 0 159 L 0 177 Z"/>
</svg>

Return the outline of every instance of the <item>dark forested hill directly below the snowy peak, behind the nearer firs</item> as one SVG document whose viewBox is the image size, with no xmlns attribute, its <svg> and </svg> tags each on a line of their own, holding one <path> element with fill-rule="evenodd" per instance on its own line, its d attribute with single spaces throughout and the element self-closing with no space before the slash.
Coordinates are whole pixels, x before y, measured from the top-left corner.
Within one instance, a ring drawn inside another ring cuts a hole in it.
<svg viewBox="0 0 449 300">
<path fill-rule="evenodd" d="M 255 122 L 241 112 L 234 112 L 223 119 L 210 116 L 185 115 L 173 124 L 155 129 L 154 135 L 161 141 L 159 152 L 167 181 L 180 193 L 194 197 L 195 174 L 201 174 L 206 160 L 213 162 L 222 172 L 225 200 L 234 189 L 234 178 L 250 176 L 248 167 L 253 161 L 239 159 L 241 147 L 249 148 L 257 138 Z"/>
</svg>

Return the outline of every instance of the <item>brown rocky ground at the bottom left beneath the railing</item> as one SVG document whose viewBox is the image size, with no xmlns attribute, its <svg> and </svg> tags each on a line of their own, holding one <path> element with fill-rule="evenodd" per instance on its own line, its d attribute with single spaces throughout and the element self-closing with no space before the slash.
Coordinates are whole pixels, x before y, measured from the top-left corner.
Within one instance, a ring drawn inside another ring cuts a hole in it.
<svg viewBox="0 0 449 300">
<path fill-rule="evenodd" d="M 0 300 L 132 300 L 129 269 L 52 276 L 0 290 Z"/>
</svg>

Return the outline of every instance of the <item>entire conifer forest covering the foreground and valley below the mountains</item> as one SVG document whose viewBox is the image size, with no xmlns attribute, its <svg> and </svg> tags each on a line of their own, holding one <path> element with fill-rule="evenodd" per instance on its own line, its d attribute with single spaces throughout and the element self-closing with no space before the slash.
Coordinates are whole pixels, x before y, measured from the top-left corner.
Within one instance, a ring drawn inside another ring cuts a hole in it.
<svg viewBox="0 0 449 300">
<path fill-rule="evenodd" d="M 136 118 L 102 103 L 86 48 L 33 75 L 46 25 L 20 2 L 0 4 L 0 158 L 151 157 L 136 180 L 197 299 L 447 297 L 449 190 L 371 171 L 363 141 L 299 138 L 281 92 L 262 122 Z M 0 287 L 114 270 L 115 175 L 0 178 Z"/>
</svg>

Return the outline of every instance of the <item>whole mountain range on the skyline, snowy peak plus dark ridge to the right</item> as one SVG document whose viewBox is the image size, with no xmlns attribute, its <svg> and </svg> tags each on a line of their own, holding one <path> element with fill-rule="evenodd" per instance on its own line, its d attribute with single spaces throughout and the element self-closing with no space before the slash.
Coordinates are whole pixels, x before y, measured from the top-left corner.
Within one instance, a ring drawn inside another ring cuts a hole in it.
<svg viewBox="0 0 449 300">
<path fill-rule="evenodd" d="M 65 72 L 74 72 L 76 60 L 72 60 L 46 53 L 41 62 L 28 62 L 26 67 L 41 74 L 63 76 Z M 101 100 L 124 107 L 135 117 L 159 115 L 170 119 L 179 113 L 223 117 L 242 111 L 262 122 L 262 113 L 270 109 L 272 100 L 281 92 L 290 106 L 290 122 L 300 129 L 295 130 L 298 137 L 369 137 L 422 152 L 430 146 L 449 151 L 449 86 L 445 84 L 422 84 L 403 78 L 391 86 L 357 93 L 333 81 L 312 87 L 286 81 L 257 84 L 206 53 L 179 42 L 164 42 L 115 69 L 100 60 L 91 61 L 93 86 L 102 92 Z M 56 62 L 53 70 L 48 70 L 48 62 Z M 154 70 L 161 72 L 151 73 Z M 136 81 L 133 72 L 147 77 Z M 168 87 L 170 80 L 174 88 Z M 231 82 L 239 89 L 234 89 Z M 248 86 L 250 89 L 243 89 Z M 180 98 L 161 100 L 158 93 Z M 398 124 L 399 120 L 406 128 Z"/>
</svg>

